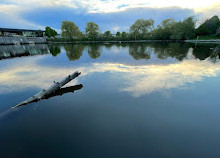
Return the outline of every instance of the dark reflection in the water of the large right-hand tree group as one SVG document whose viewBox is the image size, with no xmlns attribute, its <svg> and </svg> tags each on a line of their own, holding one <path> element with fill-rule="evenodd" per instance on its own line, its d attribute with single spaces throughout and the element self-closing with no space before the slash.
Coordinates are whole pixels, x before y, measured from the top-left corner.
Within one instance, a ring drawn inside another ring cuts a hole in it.
<svg viewBox="0 0 220 158">
<path fill-rule="evenodd" d="M 193 55 L 200 60 L 205 60 L 209 57 L 215 63 L 219 59 L 220 45 L 204 43 L 133 43 L 129 44 L 129 54 L 136 60 L 150 59 L 151 54 L 154 53 L 159 59 L 176 58 L 182 61 L 187 57 L 190 48 L 193 50 Z"/>
</svg>

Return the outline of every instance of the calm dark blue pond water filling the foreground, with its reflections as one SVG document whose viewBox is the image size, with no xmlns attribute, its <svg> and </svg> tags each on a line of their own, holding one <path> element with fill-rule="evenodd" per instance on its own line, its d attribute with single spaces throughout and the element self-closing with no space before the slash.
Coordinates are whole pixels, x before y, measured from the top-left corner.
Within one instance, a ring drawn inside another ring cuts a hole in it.
<svg viewBox="0 0 220 158">
<path fill-rule="evenodd" d="M 219 54 L 213 44 L 0 46 L 0 157 L 219 157 Z M 10 109 L 75 71 L 62 95 Z"/>
</svg>

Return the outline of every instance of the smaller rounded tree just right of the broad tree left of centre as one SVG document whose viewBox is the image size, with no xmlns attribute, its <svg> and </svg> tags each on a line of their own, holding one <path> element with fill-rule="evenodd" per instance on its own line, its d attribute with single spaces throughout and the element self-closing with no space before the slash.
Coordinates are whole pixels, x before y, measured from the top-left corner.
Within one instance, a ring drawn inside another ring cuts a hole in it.
<svg viewBox="0 0 220 158">
<path fill-rule="evenodd" d="M 85 32 L 89 38 L 95 40 L 99 34 L 99 26 L 94 22 L 88 22 L 86 24 Z"/>
</svg>

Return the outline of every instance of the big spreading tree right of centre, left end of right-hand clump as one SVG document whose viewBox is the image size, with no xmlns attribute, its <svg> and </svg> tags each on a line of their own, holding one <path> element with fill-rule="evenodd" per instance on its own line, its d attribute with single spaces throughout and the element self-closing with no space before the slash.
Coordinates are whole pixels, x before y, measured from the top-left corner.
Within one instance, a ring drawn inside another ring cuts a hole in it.
<svg viewBox="0 0 220 158">
<path fill-rule="evenodd" d="M 135 21 L 133 25 L 130 27 L 130 34 L 134 39 L 137 38 L 145 38 L 147 33 L 149 33 L 154 27 L 154 20 L 149 19 L 138 19 Z"/>
</svg>

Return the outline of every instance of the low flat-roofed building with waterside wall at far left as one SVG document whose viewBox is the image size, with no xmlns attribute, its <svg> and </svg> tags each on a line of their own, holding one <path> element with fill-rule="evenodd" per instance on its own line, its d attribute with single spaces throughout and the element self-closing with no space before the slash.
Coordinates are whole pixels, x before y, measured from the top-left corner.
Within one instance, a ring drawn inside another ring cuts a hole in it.
<svg viewBox="0 0 220 158">
<path fill-rule="evenodd" d="M 44 31 L 0 28 L 0 44 L 45 43 Z"/>
</svg>

